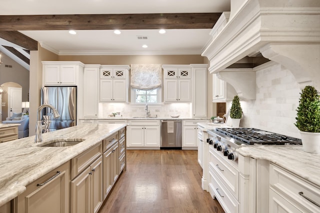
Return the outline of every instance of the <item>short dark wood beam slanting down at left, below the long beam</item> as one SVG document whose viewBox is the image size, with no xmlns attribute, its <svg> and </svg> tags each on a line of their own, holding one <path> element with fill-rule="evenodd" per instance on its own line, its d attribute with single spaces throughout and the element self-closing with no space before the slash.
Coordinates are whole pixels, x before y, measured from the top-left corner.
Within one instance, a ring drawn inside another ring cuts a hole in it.
<svg viewBox="0 0 320 213">
<path fill-rule="evenodd" d="M 18 31 L 0 31 L 0 38 L 28 50 L 37 50 L 38 42 Z"/>
</svg>

